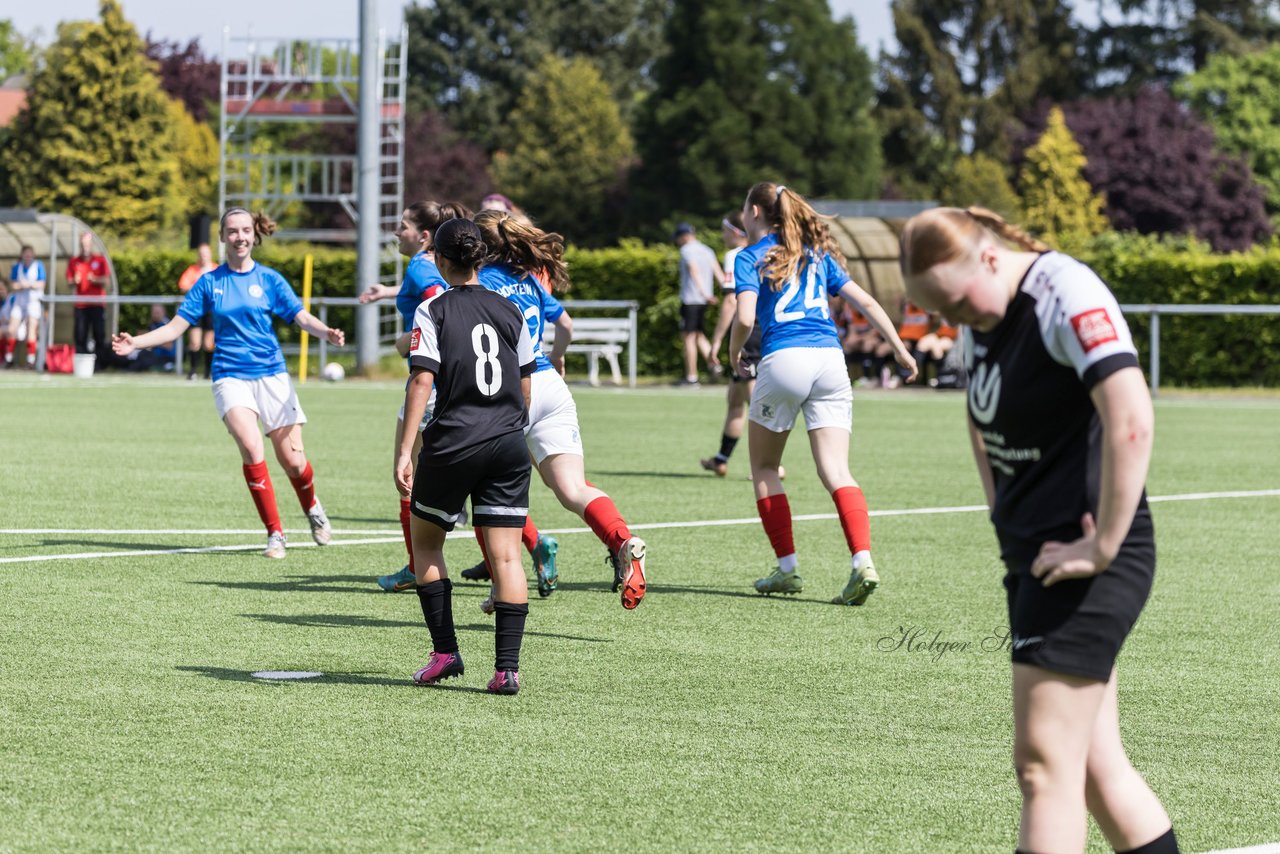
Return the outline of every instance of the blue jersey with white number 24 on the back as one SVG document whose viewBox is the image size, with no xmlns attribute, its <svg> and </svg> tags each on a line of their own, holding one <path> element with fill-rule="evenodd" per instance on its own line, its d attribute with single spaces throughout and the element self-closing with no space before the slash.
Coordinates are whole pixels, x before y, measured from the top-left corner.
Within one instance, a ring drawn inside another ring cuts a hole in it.
<svg viewBox="0 0 1280 854">
<path fill-rule="evenodd" d="M 788 347 L 840 347 L 827 298 L 840 293 L 849 274 L 829 255 L 806 250 L 797 275 L 781 291 L 774 291 L 762 280 L 762 268 L 764 256 L 777 245 L 776 234 L 765 234 L 739 252 L 733 261 L 733 288 L 737 293 L 756 294 L 755 321 L 763 338 L 760 355 Z"/>
</svg>

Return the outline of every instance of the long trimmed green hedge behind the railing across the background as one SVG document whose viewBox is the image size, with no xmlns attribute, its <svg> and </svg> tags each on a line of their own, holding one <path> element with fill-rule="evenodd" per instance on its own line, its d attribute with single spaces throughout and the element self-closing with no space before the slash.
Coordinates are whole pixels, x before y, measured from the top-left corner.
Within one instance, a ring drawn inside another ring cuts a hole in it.
<svg viewBox="0 0 1280 854">
<path fill-rule="evenodd" d="M 305 252 L 264 246 L 255 254 L 278 269 L 301 293 Z M 316 250 L 315 296 L 352 296 L 355 252 Z M 1115 291 L 1121 302 L 1280 303 L 1280 247 L 1213 255 L 1198 246 L 1170 246 L 1148 238 L 1103 237 L 1082 260 Z M 120 292 L 177 293 L 188 252 L 118 252 L 113 256 Z M 568 251 L 570 300 L 635 300 L 640 303 L 639 369 L 649 376 L 675 376 L 681 369 L 677 255 L 669 246 L 628 243 L 604 250 Z M 586 314 L 586 311 L 581 312 Z M 351 309 L 330 312 L 330 323 L 352 329 Z M 714 312 L 708 325 L 714 323 Z M 1149 324 L 1132 315 L 1129 324 L 1146 370 Z M 122 311 L 122 325 L 145 328 L 146 307 Z M 297 329 L 283 330 L 294 341 Z M 1165 316 L 1161 319 L 1161 382 L 1170 385 L 1280 387 L 1280 316 Z"/>
</svg>

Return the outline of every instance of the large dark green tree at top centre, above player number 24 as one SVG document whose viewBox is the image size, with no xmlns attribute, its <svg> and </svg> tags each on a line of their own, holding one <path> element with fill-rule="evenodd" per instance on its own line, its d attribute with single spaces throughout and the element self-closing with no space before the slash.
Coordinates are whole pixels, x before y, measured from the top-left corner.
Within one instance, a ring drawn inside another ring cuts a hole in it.
<svg viewBox="0 0 1280 854">
<path fill-rule="evenodd" d="M 872 64 L 826 0 L 677 0 L 667 44 L 636 129 L 643 222 L 719 216 L 764 179 L 877 196 Z"/>
</svg>

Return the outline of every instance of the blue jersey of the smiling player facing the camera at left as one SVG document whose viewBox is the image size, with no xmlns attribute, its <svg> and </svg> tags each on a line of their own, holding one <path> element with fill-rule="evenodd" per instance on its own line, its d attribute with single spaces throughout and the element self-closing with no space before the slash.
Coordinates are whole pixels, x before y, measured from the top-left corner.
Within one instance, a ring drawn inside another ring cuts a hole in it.
<svg viewBox="0 0 1280 854">
<path fill-rule="evenodd" d="M 233 376 L 261 379 L 284 373 L 284 353 L 271 326 L 271 316 L 284 323 L 302 311 L 293 288 L 269 266 L 253 264 L 247 273 L 234 273 L 225 264 L 205 273 L 191 286 L 178 307 L 178 316 L 198 325 L 214 315 L 214 382 Z"/>
</svg>

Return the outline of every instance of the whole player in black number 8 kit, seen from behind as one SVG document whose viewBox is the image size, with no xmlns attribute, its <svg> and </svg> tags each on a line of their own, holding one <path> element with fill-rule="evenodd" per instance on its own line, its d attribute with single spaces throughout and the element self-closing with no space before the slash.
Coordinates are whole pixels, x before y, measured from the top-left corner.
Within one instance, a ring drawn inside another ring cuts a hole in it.
<svg viewBox="0 0 1280 854">
<path fill-rule="evenodd" d="M 448 220 L 436 229 L 435 245 L 449 289 L 424 302 L 415 315 L 406 424 L 419 423 L 433 388 L 435 408 L 422 431 L 416 470 L 408 434 L 401 439 L 394 471 L 402 490 L 411 487 L 413 570 L 422 618 L 431 632 L 431 659 L 413 679 L 430 685 L 463 672 L 444 538 L 470 498 L 494 581 L 495 656 L 489 690 L 515 694 L 529 615 L 520 531 L 529 513 L 524 431 L 534 344 L 520 311 L 476 282 L 485 246 L 475 223 Z"/>
</svg>

